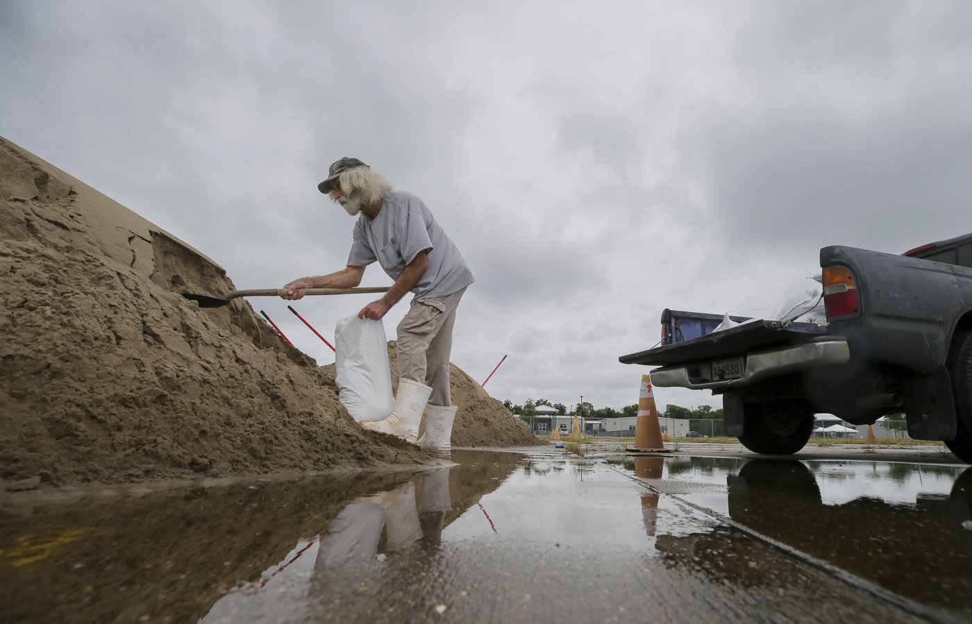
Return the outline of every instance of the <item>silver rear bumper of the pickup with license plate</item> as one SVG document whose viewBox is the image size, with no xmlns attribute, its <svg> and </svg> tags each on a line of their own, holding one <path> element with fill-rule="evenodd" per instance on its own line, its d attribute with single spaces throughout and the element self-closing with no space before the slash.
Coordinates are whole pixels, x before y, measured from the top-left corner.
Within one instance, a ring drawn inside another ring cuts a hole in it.
<svg viewBox="0 0 972 624">
<path fill-rule="evenodd" d="M 712 363 L 662 366 L 650 371 L 651 383 L 663 388 L 712 390 L 747 386 L 768 377 L 822 364 L 845 364 L 851 350 L 845 340 L 824 340 L 769 349 L 746 356 L 746 371 L 739 379 L 712 380 Z"/>
</svg>

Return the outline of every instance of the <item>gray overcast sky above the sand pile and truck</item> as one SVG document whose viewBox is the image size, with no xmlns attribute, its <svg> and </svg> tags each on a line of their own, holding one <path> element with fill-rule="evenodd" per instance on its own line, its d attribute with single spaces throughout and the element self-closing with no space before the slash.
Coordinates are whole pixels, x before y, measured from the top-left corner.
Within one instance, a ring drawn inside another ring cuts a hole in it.
<svg viewBox="0 0 972 624">
<path fill-rule="evenodd" d="M 317 184 L 363 159 L 468 260 L 452 360 L 508 355 L 486 389 L 514 403 L 620 409 L 664 308 L 768 318 L 820 247 L 972 231 L 968 2 L 0 0 L 0 85 L 0 135 L 238 289 L 344 266 Z M 295 309 L 330 340 L 369 300 Z"/>
</svg>

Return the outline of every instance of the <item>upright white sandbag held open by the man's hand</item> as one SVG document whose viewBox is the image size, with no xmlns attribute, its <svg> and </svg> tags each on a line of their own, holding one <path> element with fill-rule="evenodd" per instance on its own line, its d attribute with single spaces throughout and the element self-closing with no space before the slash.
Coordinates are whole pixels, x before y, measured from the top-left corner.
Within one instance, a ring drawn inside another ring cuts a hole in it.
<svg viewBox="0 0 972 624">
<path fill-rule="evenodd" d="M 334 382 L 341 403 L 358 422 L 381 420 L 395 409 L 387 342 L 381 321 L 357 314 L 334 328 Z"/>
</svg>

